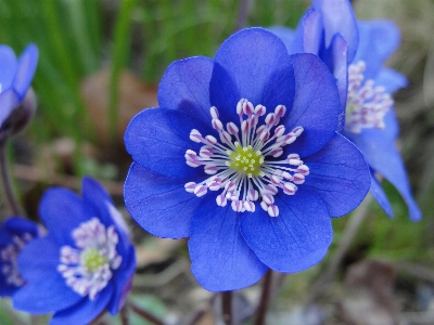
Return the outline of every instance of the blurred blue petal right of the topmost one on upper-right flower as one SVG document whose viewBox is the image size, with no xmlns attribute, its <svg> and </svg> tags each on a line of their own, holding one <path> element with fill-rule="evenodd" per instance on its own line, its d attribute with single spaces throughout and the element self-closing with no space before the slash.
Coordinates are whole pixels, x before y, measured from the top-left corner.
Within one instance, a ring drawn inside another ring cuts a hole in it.
<svg viewBox="0 0 434 325">
<path fill-rule="evenodd" d="M 359 47 L 354 63 L 365 61 L 365 79 L 373 79 L 399 46 L 399 29 L 391 21 L 359 22 Z"/>
</svg>

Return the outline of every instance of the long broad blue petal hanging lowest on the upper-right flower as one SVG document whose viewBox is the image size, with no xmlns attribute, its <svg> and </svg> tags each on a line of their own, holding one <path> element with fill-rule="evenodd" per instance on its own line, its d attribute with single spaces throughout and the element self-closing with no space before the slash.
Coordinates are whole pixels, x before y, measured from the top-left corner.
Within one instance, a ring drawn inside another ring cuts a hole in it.
<svg viewBox="0 0 434 325">
<path fill-rule="evenodd" d="M 348 139 L 363 153 L 369 166 L 400 193 L 407 204 L 410 219 L 420 220 L 421 211 L 411 195 L 403 159 L 393 141 L 384 136 L 381 130 L 363 130 L 360 134 L 348 132 Z"/>
</svg>

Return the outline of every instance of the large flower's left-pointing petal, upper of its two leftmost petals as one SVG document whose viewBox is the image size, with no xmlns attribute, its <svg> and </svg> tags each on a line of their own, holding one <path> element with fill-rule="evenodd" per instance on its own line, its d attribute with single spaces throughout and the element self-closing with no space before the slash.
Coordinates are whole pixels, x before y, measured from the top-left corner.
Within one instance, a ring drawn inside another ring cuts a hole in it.
<svg viewBox="0 0 434 325">
<path fill-rule="evenodd" d="M 203 136 L 217 135 L 209 126 L 178 109 L 148 108 L 136 115 L 125 132 L 125 144 L 135 161 L 144 168 L 173 178 L 196 178 L 203 168 L 186 164 L 186 152 L 202 144 L 190 140 L 192 129 Z"/>
</svg>

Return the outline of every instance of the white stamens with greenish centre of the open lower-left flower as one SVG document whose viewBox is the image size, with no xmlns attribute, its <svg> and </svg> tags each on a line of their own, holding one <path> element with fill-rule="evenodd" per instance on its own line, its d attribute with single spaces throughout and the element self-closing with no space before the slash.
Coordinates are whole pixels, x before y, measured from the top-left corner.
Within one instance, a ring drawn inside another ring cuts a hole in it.
<svg viewBox="0 0 434 325">
<path fill-rule="evenodd" d="M 58 271 L 74 291 L 94 300 L 120 265 L 122 257 L 116 251 L 118 235 L 114 225 L 105 229 L 98 218 L 92 218 L 80 223 L 72 237 L 77 248 L 61 247 Z"/>
</svg>

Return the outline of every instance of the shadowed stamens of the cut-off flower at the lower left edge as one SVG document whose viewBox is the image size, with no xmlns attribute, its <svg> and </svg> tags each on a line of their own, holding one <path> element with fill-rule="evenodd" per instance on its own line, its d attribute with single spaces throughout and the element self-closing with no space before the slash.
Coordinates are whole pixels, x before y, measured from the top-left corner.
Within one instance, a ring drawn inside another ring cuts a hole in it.
<svg viewBox="0 0 434 325">
<path fill-rule="evenodd" d="M 33 238 L 34 237 L 29 233 L 24 233 L 21 236 L 14 235 L 12 237 L 12 243 L 1 249 L 1 272 L 4 275 L 7 284 L 16 287 L 20 287 L 24 284 L 24 280 L 20 275 L 17 258 L 24 246 Z"/>
</svg>

